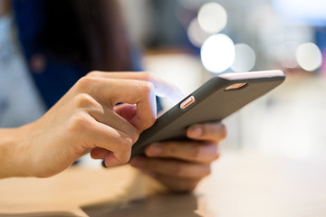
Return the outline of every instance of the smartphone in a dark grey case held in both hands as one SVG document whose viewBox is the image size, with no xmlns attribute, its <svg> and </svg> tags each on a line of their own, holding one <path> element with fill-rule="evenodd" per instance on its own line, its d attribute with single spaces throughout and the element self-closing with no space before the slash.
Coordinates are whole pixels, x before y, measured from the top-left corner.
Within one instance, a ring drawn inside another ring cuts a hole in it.
<svg viewBox="0 0 326 217">
<path fill-rule="evenodd" d="M 143 131 L 132 146 L 131 156 L 143 155 L 145 147 L 153 142 L 187 139 L 190 125 L 221 121 L 283 80 L 283 71 L 225 73 L 213 77 Z"/>
</svg>

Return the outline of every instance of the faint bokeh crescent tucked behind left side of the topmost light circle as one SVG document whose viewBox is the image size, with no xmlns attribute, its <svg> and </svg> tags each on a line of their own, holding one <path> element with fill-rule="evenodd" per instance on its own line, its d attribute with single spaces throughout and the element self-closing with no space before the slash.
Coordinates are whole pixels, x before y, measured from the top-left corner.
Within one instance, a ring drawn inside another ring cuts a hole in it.
<svg viewBox="0 0 326 217">
<path fill-rule="evenodd" d="M 189 41 L 197 47 L 201 47 L 203 42 L 209 37 L 209 33 L 204 32 L 197 21 L 197 18 L 193 19 L 187 28 L 187 35 Z"/>
</svg>

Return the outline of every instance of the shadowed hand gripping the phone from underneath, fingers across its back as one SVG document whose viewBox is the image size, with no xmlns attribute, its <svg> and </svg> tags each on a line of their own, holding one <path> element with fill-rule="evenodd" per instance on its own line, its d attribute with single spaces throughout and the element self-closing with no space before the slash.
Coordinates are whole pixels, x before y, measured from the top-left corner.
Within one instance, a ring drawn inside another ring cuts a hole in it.
<svg viewBox="0 0 326 217">
<path fill-rule="evenodd" d="M 155 143 L 146 156 L 131 159 L 130 165 L 156 178 L 169 189 L 188 192 L 209 175 L 211 163 L 219 157 L 218 143 L 226 136 L 222 123 L 205 123 L 187 129 L 192 141 Z"/>
</svg>

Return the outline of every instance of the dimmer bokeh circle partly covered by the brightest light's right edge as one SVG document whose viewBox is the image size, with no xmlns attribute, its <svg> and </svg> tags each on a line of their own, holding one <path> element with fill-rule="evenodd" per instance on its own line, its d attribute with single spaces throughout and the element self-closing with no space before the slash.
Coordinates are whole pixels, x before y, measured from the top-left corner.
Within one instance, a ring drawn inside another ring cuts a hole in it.
<svg viewBox="0 0 326 217">
<path fill-rule="evenodd" d="M 231 66 L 233 71 L 251 71 L 254 68 L 254 50 L 245 43 L 235 44 L 235 61 Z"/>
</svg>

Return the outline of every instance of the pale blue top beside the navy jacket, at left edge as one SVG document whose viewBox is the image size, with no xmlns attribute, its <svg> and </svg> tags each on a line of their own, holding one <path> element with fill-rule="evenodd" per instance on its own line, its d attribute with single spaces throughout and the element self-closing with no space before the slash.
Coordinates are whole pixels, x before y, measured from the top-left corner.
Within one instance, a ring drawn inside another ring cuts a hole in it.
<svg viewBox="0 0 326 217">
<path fill-rule="evenodd" d="M 0 17 L 0 127 L 19 127 L 46 108 L 16 40 L 13 18 Z"/>
</svg>

